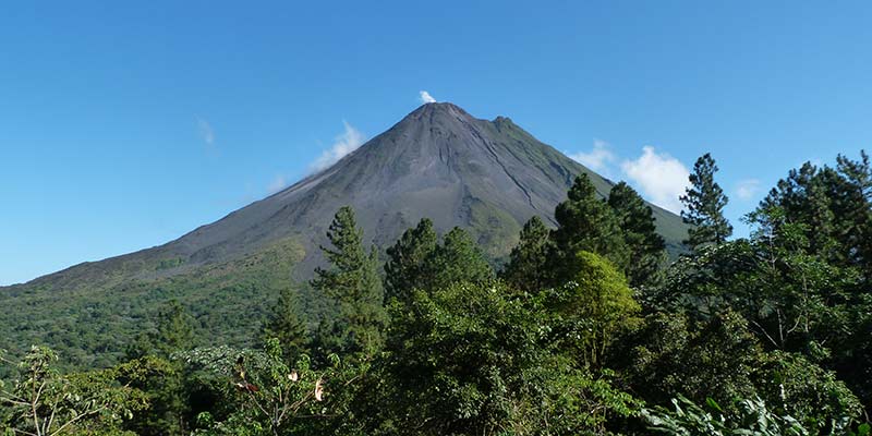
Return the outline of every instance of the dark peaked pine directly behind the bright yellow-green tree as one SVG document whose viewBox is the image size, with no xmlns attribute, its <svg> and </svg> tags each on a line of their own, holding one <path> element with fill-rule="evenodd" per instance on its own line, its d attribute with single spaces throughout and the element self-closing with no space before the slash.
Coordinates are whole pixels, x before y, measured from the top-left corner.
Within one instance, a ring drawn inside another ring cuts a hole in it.
<svg viewBox="0 0 872 436">
<path fill-rule="evenodd" d="M 596 195 L 588 174 L 576 178 L 568 197 L 554 211 L 558 228 L 552 233 L 556 252 L 550 262 L 556 281 L 550 284 L 562 284 L 571 278 L 568 268 L 571 269 L 576 254 L 581 251 L 604 256 L 619 269 L 626 268 L 629 254 L 618 219 Z"/>
</svg>

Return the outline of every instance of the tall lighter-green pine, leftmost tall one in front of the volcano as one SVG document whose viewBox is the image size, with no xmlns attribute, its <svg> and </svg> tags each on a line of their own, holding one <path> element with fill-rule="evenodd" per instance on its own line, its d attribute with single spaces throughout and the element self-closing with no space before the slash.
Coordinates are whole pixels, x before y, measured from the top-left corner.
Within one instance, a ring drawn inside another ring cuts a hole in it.
<svg viewBox="0 0 872 436">
<path fill-rule="evenodd" d="M 343 206 L 336 213 L 327 231 L 332 249 L 322 246 L 330 263 L 328 269 L 317 268 L 312 287 L 332 300 L 339 311 L 341 350 L 339 352 L 372 351 L 382 343 L 385 311 L 384 292 L 376 270 L 378 258 L 373 247 L 363 247 L 363 230 L 358 228 L 354 210 Z M 328 331 L 336 332 L 336 328 Z M 336 342 L 324 339 L 322 342 Z"/>
</svg>

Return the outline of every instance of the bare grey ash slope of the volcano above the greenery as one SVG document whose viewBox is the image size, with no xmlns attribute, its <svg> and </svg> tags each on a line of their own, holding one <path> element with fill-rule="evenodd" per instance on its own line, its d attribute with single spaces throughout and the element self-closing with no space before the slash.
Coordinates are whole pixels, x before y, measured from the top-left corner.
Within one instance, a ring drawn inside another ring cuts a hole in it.
<svg viewBox="0 0 872 436">
<path fill-rule="evenodd" d="M 320 262 L 317 246 L 342 205 L 354 207 L 366 238 L 383 247 L 429 217 L 441 231 L 469 229 L 497 258 L 510 251 L 533 215 L 553 222 L 555 206 L 582 172 L 600 194 L 608 193 L 608 180 L 508 118 L 480 120 L 452 104 L 427 104 L 332 167 L 173 242 L 82 264 L 36 282 L 55 288 L 166 277 L 238 259 L 288 239 L 305 250 L 295 272 L 306 278 Z M 677 250 L 686 235 L 680 218 L 653 208 L 658 230 Z"/>
</svg>

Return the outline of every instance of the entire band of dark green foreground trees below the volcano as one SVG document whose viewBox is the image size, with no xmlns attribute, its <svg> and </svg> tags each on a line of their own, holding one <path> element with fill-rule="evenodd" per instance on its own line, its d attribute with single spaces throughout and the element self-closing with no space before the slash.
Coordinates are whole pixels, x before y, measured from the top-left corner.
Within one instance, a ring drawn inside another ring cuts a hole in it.
<svg viewBox="0 0 872 436">
<path fill-rule="evenodd" d="M 439 238 L 426 219 L 378 268 L 342 207 L 328 265 L 281 292 L 257 347 L 196 347 L 204 327 L 171 301 L 125 363 L 63 373 L 33 348 L 0 386 L 0 423 L 40 435 L 868 436 L 869 158 L 791 171 L 736 240 L 717 237 L 726 198 L 714 160 L 701 162 L 686 206 L 691 239 L 705 238 L 676 262 L 629 186 L 601 198 L 584 175 L 558 227 L 531 218 L 498 274 L 469 232 Z M 310 320 L 305 295 L 322 302 Z"/>
</svg>

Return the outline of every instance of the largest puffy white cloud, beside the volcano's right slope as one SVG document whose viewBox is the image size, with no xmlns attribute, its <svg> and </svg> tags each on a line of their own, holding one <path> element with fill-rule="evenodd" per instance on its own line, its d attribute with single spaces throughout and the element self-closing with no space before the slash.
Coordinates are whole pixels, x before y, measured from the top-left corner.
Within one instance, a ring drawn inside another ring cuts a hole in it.
<svg viewBox="0 0 872 436">
<path fill-rule="evenodd" d="M 645 146 L 642 147 L 642 156 L 635 160 L 625 160 L 621 170 L 650 202 L 676 214 L 681 211 L 678 197 L 685 194 L 690 184 L 690 171 L 681 161 Z"/>
</svg>

